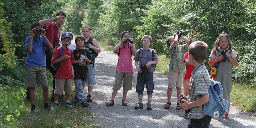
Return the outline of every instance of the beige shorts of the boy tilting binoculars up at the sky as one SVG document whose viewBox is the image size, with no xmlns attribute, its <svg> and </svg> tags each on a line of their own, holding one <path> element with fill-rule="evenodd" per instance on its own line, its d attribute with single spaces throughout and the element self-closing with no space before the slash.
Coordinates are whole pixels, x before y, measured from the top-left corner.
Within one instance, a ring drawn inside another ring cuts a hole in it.
<svg viewBox="0 0 256 128">
<path fill-rule="evenodd" d="M 175 70 L 168 71 L 168 87 L 175 89 L 175 87 L 182 87 L 182 75 L 183 72 Z"/>
</svg>

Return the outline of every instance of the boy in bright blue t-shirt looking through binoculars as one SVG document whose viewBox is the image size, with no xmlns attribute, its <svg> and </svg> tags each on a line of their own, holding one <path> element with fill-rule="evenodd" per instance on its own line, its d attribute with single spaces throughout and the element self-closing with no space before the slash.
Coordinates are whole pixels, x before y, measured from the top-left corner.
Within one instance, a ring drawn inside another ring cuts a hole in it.
<svg viewBox="0 0 256 128">
<path fill-rule="evenodd" d="M 42 34 L 42 35 L 41 35 Z M 45 36 L 43 25 L 39 22 L 31 24 L 31 36 L 25 40 L 27 57 L 25 60 L 25 87 L 29 88 L 31 112 L 38 112 L 35 107 L 35 86 L 42 86 L 44 108 L 54 110 L 48 105 L 48 81 L 46 77 L 45 47 L 53 49 L 52 44 Z"/>
</svg>

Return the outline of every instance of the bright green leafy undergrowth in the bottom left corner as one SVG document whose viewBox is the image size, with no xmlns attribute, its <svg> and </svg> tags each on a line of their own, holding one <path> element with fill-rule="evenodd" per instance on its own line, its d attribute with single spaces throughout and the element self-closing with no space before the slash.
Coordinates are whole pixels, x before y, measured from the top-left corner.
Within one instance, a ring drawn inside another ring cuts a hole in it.
<svg viewBox="0 0 256 128">
<path fill-rule="evenodd" d="M 16 118 L 20 116 L 20 111 L 24 110 L 26 93 L 19 86 L 10 86 L 0 83 L 0 125 L 10 127 L 15 125 Z"/>
</svg>

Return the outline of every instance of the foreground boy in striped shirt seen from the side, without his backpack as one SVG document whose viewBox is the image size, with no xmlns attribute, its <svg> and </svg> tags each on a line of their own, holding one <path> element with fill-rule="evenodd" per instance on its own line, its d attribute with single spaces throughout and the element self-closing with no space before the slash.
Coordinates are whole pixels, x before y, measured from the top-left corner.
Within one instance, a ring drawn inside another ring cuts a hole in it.
<svg viewBox="0 0 256 128">
<path fill-rule="evenodd" d="M 188 128 L 208 128 L 211 122 L 211 116 L 203 113 L 203 104 L 209 101 L 209 74 L 201 68 L 206 69 L 204 60 L 207 54 L 207 44 L 201 41 L 193 42 L 188 47 L 189 63 L 193 64 L 195 69 L 190 79 L 189 96 L 182 99 L 180 106 L 183 110 L 190 109 L 188 117 L 190 118 Z"/>
</svg>

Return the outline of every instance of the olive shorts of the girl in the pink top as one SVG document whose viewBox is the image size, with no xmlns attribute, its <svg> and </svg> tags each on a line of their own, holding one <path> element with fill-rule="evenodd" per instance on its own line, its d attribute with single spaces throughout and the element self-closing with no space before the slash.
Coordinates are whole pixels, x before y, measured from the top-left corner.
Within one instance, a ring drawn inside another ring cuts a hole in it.
<svg viewBox="0 0 256 128">
<path fill-rule="evenodd" d="M 132 78 L 133 78 L 133 72 L 128 72 L 128 73 L 116 72 L 116 80 L 115 80 L 113 90 L 121 89 L 123 79 L 124 79 L 123 89 L 132 90 Z"/>
</svg>

